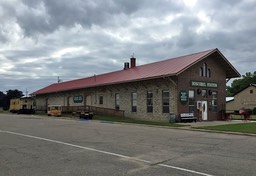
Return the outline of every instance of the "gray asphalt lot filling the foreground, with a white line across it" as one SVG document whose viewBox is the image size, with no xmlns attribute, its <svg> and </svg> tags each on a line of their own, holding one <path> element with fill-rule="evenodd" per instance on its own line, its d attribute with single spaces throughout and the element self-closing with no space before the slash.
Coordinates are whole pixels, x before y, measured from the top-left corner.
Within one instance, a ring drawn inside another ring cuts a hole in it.
<svg viewBox="0 0 256 176">
<path fill-rule="evenodd" d="M 255 175 L 256 137 L 0 114 L 0 175 Z"/>
</svg>

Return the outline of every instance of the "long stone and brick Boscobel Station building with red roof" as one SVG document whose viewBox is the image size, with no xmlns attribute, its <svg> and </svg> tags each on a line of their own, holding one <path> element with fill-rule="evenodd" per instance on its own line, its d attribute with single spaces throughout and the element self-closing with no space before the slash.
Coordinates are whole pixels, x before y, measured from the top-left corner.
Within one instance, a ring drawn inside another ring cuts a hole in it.
<svg viewBox="0 0 256 176">
<path fill-rule="evenodd" d="M 136 65 L 83 79 L 55 83 L 32 95 L 36 107 L 61 105 L 72 112 L 92 108 L 95 113 L 146 120 L 168 120 L 170 114 L 191 113 L 197 120 L 221 119 L 226 105 L 226 82 L 240 77 L 216 48 L 155 63 Z"/>
</svg>

